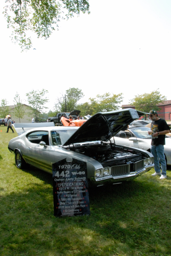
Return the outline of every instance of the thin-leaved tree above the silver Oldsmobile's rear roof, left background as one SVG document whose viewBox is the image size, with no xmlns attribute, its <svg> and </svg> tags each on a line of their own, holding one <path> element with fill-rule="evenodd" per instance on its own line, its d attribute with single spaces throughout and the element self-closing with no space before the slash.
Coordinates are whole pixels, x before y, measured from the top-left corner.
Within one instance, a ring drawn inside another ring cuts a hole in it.
<svg viewBox="0 0 171 256">
<path fill-rule="evenodd" d="M 30 105 L 30 110 L 32 114 L 35 116 L 35 120 L 38 119 L 39 115 L 42 113 L 43 108 L 47 108 L 44 105 L 49 101 L 45 94 L 48 93 L 48 90 L 42 89 L 40 90 L 32 90 L 29 93 L 26 93 L 27 101 Z"/>
</svg>

